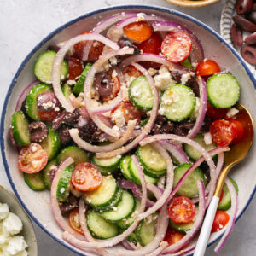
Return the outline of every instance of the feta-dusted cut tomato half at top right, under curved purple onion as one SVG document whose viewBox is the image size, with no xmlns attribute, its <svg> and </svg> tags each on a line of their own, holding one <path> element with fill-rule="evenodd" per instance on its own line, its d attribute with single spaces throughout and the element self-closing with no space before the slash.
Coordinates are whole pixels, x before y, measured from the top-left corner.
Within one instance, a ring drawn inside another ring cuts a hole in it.
<svg viewBox="0 0 256 256">
<path fill-rule="evenodd" d="M 169 61 L 180 62 L 185 60 L 191 51 L 192 41 L 184 32 L 170 32 L 161 45 L 163 55 Z"/>
</svg>

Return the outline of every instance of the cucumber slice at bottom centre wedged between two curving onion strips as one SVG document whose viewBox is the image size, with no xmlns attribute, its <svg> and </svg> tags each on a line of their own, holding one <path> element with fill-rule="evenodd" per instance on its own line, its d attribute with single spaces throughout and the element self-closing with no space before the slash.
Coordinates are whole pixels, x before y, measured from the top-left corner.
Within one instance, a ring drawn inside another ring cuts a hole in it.
<svg viewBox="0 0 256 256">
<path fill-rule="evenodd" d="M 156 233 L 155 225 L 158 214 L 152 214 L 148 218 L 143 219 L 140 224 L 138 224 L 135 234 L 137 236 L 137 241 L 145 247 L 150 241 L 154 240 Z"/>
</svg>

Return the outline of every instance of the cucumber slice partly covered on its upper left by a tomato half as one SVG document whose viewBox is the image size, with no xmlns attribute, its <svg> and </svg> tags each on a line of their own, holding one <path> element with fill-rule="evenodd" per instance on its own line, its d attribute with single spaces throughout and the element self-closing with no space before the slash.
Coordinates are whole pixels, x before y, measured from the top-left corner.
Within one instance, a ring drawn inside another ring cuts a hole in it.
<svg viewBox="0 0 256 256">
<path fill-rule="evenodd" d="M 103 176 L 99 188 L 84 192 L 84 201 L 90 204 L 91 207 L 106 207 L 115 200 L 118 191 L 119 186 L 113 176 Z"/>
</svg>

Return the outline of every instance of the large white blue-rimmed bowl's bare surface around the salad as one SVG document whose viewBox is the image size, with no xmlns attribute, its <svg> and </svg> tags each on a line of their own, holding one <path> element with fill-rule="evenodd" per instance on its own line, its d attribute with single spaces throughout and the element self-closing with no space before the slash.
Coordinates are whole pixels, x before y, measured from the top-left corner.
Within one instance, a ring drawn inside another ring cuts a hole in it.
<svg viewBox="0 0 256 256">
<path fill-rule="evenodd" d="M 199 20 L 195 20 L 189 15 L 184 15 L 172 9 L 164 9 L 160 7 L 126 5 L 90 12 L 89 14 L 82 15 L 75 20 L 71 20 L 67 24 L 56 29 L 54 32 L 51 32 L 48 37 L 44 38 L 44 40 L 32 49 L 32 52 L 29 55 L 27 55 L 9 86 L 8 94 L 3 106 L 1 120 L 1 147 L 3 162 L 9 177 L 9 182 L 15 190 L 15 194 L 34 221 L 44 231 L 46 231 L 49 236 L 53 237 L 56 241 L 61 242 L 61 244 L 70 248 L 73 252 L 80 253 L 81 255 L 84 254 L 61 239 L 61 229 L 55 223 L 55 219 L 50 210 L 49 191 L 34 192 L 27 187 L 26 183 L 24 183 L 22 174 L 17 167 L 17 153 L 15 148 L 12 148 L 7 142 L 7 132 L 11 116 L 15 111 L 15 102 L 20 96 L 20 92 L 25 88 L 26 84 L 30 83 L 34 79 L 33 65 L 40 53 L 47 49 L 51 44 L 65 41 L 68 38 L 84 32 L 84 30 L 90 30 L 99 20 L 102 20 L 109 15 L 122 11 L 129 12 L 131 10 L 163 15 L 168 20 L 180 22 L 195 32 L 195 35 L 201 39 L 205 49 L 205 55 L 217 61 L 220 67 L 229 70 L 231 73 L 236 75 L 236 78 L 241 84 L 240 101 L 250 110 L 254 121 L 256 120 L 254 89 L 254 87 L 256 88 L 256 81 L 253 78 L 252 73 L 250 73 L 247 65 L 241 60 L 241 57 L 237 54 L 236 50 L 230 47 L 230 45 L 227 44 L 217 32 L 212 31 L 210 27 L 204 25 Z M 253 143 L 253 147 L 248 154 L 247 159 L 232 170 L 231 177 L 236 179 L 239 186 L 239 210 L 237 219 L 241 217 L 242 212 L 245 211 L 255 192 L 256 180 L 254 178 L 254 170 L 256 166 L 256 159 L 253 157 L 255 154 L 256 143 Z M 216 241 L 222 234 L 223 231 L 212 234 L 209 245 Z M 115 249 L 113 248 L 113 250 Z"/>
</svg>

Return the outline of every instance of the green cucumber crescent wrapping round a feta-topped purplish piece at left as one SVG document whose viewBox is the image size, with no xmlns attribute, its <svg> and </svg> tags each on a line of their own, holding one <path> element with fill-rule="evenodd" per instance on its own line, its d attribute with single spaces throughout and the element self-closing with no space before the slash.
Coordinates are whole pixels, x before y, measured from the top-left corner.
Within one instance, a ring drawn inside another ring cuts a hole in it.
<svg viewBox="0 0 256 256">
<path fill-rule="evenodd" d="M 38 100 L 37 96 L 41 93 L 52 91 L 52 88 L 48 84 L 37 84 L 35 85 L 29 94 L 26 96 L 26 113 L 32 119 L 40 120 L 38 116 Z"/>
</svg>

